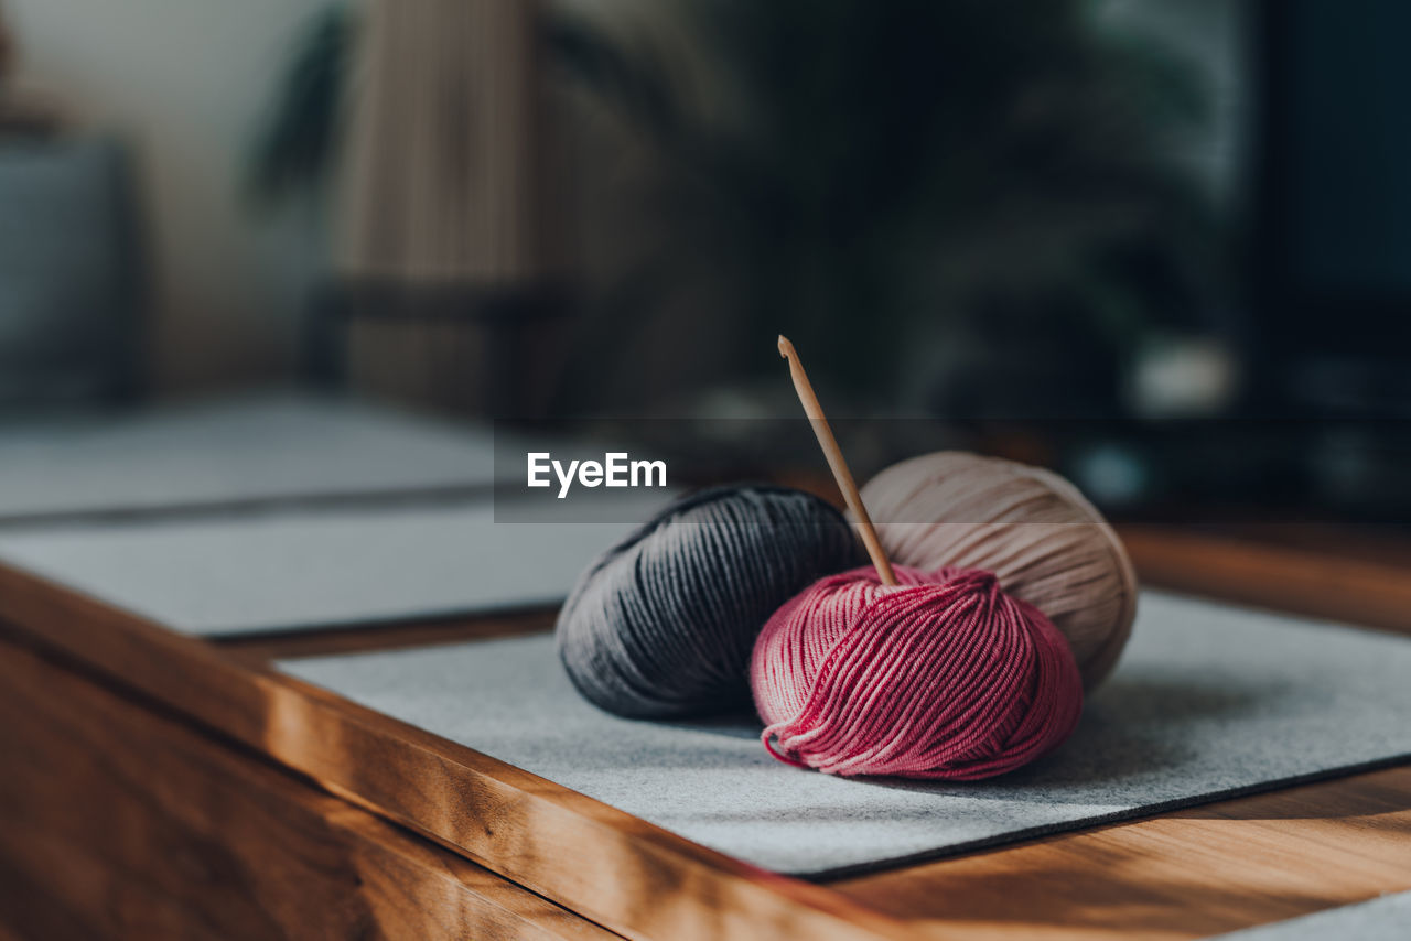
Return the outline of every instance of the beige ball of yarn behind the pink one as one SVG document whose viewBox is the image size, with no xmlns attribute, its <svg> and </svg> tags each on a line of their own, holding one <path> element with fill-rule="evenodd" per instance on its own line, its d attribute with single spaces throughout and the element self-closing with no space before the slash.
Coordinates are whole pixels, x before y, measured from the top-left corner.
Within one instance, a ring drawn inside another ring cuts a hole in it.
<svg viewBox="0 0 1411 941">
<path fill-rule="evenodd" d="M 1071 482 L 1017 461 L 937 451 L 888 467 L 862 501 L 893 561 L 993 571 L 1068 638 L 1085 688 L 1112 672 L 1132 633 L 1137 578 L 1122 540 Z"/>
</svg>

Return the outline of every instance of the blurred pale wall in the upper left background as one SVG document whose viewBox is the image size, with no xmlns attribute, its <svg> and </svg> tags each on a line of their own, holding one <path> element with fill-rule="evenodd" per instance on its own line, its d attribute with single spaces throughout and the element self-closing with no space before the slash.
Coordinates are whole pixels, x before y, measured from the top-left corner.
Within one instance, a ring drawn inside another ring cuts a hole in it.
<svg viewBox="0 0 1411 941">
<path fill-rule="evenodd" d="M 154 264 L 158 389 L 286 375 L 323 269 L 312 212 L 261 220 L 244 161 L 298 30 L 327 0 L 0 0 L 24 86 L 128 140 Z"/>
</svg>

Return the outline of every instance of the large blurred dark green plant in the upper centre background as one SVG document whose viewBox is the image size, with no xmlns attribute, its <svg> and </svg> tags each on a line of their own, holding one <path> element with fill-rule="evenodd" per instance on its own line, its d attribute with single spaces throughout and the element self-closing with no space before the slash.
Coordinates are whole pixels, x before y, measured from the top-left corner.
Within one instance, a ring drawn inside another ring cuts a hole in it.
<svg viewBox="0 0 1411 941">
<path fill-rule="evenodd" d="M 552 31 L 670 168 L 639 281 L 725 277 L 744 334 L 782 329 L 872 389 L 895 387 L 899 337 L 937 319 L 1017 344 L 1067 316 L 1127 346 L 1201 303 L 1215 226 L 1170 151 L 1205 120 L 1204 90 L 1163 47 L 1101 30 L 1091 3 L 672 4 L 728 124 L 673 93 L 660 51 L 581 20 Z M 746 348 L 768 357 L 766 340 Z"/>
</svg>

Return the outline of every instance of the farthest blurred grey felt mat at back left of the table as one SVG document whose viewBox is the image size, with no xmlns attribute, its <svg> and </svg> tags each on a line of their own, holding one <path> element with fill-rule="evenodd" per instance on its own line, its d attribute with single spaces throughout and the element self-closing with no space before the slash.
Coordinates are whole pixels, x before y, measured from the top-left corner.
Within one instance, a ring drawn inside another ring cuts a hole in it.
<svg viewBox="0 0 1411 941">
<path fill-rule="evenodd" d="M 0 522 L 488 488 L 488 429 L 296 394 L 0 422 Z"/>
</svg>

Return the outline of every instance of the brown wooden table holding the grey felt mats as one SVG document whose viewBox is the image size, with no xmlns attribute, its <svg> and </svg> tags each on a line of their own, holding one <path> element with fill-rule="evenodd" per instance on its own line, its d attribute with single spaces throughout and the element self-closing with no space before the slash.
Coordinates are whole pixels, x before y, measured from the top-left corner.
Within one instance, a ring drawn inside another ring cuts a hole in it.
<svg viewBox="0 0 1411 941">
<path fill-rule="evenodd" d="M 1149 584 L 1411 629 L 1395 553 L 1123 535 Z M 0 941 L 1191 938 L 1411 889 L 1411 766 L 811 885 L 270 666 L 550 624 L 220 645 L 0 567 Z"/>
</svg>

